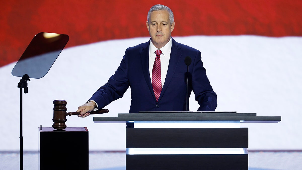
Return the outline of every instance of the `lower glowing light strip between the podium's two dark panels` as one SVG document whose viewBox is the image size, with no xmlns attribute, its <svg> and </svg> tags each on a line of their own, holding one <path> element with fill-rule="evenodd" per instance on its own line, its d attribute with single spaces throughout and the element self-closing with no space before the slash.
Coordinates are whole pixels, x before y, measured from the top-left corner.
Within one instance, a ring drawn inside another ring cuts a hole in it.
<svg viewBox="0 0 302 170">
<path fill-rule="evenodd" d="M 246 148 L 126 148 L 126 155 L 244 155 Z"/>
</svg>

